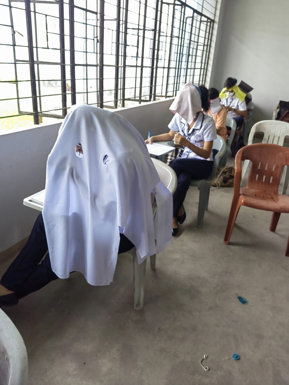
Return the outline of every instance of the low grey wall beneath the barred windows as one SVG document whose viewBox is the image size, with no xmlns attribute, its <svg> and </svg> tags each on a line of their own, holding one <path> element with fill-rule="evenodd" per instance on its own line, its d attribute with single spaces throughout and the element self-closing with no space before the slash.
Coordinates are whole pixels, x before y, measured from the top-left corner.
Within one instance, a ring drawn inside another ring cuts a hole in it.
<svg viewBox="0 0 289 385">
<path fill-rule="evenodd" d="M 146 138 L 168 130 L 171 100 L 116 111 Z M 45 187 L 45 170 L 61 122 L 34 126 L 0 135 L 0 252 L 30 234 L 38 211 L 23 206 L 23 199 Z"/>
</svg>

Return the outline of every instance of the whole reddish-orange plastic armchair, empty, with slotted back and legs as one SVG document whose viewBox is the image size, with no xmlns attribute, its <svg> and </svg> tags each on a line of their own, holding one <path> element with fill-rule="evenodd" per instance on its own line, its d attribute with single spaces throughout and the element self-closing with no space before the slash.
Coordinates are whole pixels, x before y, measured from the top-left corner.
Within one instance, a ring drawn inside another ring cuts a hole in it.
<svg viewBox="0 0 289 385">
<path fill-rule="evenodd" d="M 245 159 L 252 162 L 252 167 L 247 186 L 243 189 L 240 188 L 241 161 Z M 289 213 L 289 196 L 278 193 L 281 169 L 286 165 L 289 165 L 289 149 L 276 144 L 251 144 L 237 152 L 234 194 L 225 232 L 225 244 L 229 244 L 240 206 L 273 211 L 270 230 L 276 230 L 281 213 Z M 289 256 L 289 239 L 285 255 Z"/>
</svg>

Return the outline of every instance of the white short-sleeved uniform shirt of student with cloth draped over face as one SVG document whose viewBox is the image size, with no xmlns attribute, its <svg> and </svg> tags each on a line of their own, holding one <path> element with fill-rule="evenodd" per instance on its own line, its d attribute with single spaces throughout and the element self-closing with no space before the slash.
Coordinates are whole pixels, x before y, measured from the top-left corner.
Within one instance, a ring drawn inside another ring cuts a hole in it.
<svg viewBox="0 0 289 385">
<path fill-rule="evenodd" d="M 168 124 L 170 130 L 178 131 L 186 139 L 188 139 L 195 146 L 203 148 L 204 142 L 210 142 L 217 139 L 217 130 L 216 125 L 212 117 L 199 112 L 197 120 L 193 127 L 189 130 L 189 124 L 185 121 L 179 114 L 175 114 L 171 122 Z M 185 147 L 182 158 L 190 159 L 201 159 L 206 161 L 213 161 L 213 154 L 211 152 L 208 159 L 198 156 L 190 150 L 188 147 Z"/>
</svg>

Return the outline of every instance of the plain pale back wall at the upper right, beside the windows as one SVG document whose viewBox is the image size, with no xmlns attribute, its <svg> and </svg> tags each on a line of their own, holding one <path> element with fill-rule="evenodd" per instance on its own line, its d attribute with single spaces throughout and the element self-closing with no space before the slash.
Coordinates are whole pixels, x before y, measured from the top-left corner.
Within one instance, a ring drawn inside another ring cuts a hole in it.
<svg viewBox="0 0 289 385">
<path fill-rule="evenodd" d="M 225 2 L 210 86 L 221 89 L 229 76 L 252 85 L 255 121 L 272 119 L 279 100 L 289 100 L 288 17 L 288 0 Z"/>
</svg>

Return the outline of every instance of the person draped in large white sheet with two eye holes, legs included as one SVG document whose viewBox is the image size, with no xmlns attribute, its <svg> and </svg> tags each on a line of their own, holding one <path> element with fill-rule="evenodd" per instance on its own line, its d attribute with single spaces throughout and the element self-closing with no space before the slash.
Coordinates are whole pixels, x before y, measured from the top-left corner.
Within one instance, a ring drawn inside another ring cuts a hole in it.
<svg viewBox="0 0 289 385">
<path fill-rule="evenodd" d="M 43 212 L 0 281 L 0 306 L 72 271 L 109 285 L 118 253 L 135 246 L 141 263 L 170 243 L 172 211 L 138 131 L 113 112 L 72 107 L 48 157 Z"/>
</svg>

